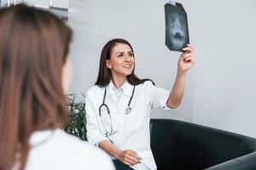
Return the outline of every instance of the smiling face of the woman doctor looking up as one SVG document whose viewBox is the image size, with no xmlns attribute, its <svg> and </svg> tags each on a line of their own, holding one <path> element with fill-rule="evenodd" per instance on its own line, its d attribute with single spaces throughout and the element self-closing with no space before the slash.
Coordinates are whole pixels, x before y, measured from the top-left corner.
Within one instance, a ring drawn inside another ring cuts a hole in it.
<svg viewBox="0 0 256 170">
<path fill-rule="evenodd" d="M 107 67 L 112 76 L 127 77 L 134 69 L 135 59 L 129 45 L 117 43 L 112 49 Z"/>
</svg>

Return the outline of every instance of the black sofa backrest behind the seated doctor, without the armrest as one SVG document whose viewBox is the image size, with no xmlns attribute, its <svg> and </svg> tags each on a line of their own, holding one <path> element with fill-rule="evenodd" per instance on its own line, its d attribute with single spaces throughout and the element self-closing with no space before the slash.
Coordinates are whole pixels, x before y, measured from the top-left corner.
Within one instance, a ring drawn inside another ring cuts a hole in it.
<svg viewBox="0 0 256 170">
<path fill-rule="evenodd" d="M 152 119 L 150 133 L 159 170 L 204 169 L 256 150 L 256 139 L 177 120 Z"/>
</svg>

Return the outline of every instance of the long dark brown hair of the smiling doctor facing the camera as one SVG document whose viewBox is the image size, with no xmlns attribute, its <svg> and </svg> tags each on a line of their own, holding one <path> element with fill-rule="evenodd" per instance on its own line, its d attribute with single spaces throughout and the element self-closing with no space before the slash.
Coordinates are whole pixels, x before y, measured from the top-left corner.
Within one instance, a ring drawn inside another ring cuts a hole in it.
<svg viewBox="0 0 256 170">
<path fill-rule="evenodd" d="M 122 38 L 115 38 L 113 40 L 110 40 L 105 44 L 105 46 L 102 48 L 102 54 L 101 54 L 101 60 L 100 60 L 100 67 L 99 67 L 99 73 L 98 77 L 96 80 L 95 85 L 99 87 L 105 87 L 108 86 L 109 82 L 112 80 L 112 74 L 110 69 L 108 69 L 106 63 L 107 60 L 110 59 L 111 54 L 112 54 L 112 49 L 118 44 L 118 43 L 124 43 L 129 45 L 131 48 L 131 52 L 134 56 L 133 48 L 131 47 L 130 42 L 126 41 L 125 39 Z M 140 79 L 138 78 L 135 73 L 134 73 L 135 67 L 133 71 L 131 72 L 131 75 L 127 76 L 127 82 L 129 82 L 132 85 L 138 85 L 146 81 L 151 81 L 150 79 Z M 154 83 L 154 82 L 153 82 Z"/>
</svg>

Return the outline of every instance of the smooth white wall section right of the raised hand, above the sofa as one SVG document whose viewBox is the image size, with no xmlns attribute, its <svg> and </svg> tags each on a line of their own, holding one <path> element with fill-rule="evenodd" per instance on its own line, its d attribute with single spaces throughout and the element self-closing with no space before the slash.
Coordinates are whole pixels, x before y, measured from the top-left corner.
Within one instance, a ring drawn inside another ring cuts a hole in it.
<svg viewBox="0 0 256 170">
<path fill-rule="evenodd" d="M 256 137 L 256 1 L 201 0 L 200 27 L 193 122 Z"/>
</svg>

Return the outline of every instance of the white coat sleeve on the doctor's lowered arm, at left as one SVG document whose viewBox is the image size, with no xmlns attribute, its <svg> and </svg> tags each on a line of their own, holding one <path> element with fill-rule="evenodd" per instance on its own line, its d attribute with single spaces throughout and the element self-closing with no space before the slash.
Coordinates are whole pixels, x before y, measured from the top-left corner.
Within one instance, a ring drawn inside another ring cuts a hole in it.
<svg viewBox="0 0 256 170">
<path fill-rule="evenodd" d="M 104 140 L 108 140 L 100 128 L 100 122 L 97 118 L 97 110 L 91 102 L 90 96 L 86 93 L 85 96 L 85 116 L 86 116 L 86 130 L 87 139 L 90 144 L 98 146 Z M 108 140 L 109 141 L 109 140 Z"/>
</svg>

